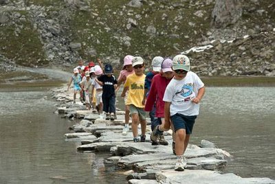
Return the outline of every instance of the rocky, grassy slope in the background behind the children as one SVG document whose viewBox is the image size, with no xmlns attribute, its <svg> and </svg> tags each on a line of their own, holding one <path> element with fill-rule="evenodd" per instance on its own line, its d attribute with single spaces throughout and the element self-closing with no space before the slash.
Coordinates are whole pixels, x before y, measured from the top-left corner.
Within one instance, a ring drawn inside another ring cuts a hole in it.
<svg viewBox="0 0 275 184">
<path fill-rule="evenodd" d="M 274 20 L 273 0 L 0 0 L 0 69 L 98 57 L 120 69 L 126 54 L 149 67 L 211 45 L 187 54 L 201 76 L 274 76 Z"/>
</svg>

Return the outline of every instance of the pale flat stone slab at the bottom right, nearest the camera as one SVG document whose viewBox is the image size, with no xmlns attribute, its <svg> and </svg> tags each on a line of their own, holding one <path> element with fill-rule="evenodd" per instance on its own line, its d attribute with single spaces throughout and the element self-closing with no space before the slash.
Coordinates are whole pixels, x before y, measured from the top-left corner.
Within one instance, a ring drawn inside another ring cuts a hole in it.
<svg viewBox="0 0 275 184">
<path fill-rule="evenodd" d="M 220 174 L 210 170 L 184 170 L 177 172 L 175 170 L 163 170 L 155 174 L 156 180 L 159 183 L 196 183 L 196 184 L 267 184 L 275 183 L 272 179 L 268 178 L 241 178 L 236 174 Z"/>
</svg>

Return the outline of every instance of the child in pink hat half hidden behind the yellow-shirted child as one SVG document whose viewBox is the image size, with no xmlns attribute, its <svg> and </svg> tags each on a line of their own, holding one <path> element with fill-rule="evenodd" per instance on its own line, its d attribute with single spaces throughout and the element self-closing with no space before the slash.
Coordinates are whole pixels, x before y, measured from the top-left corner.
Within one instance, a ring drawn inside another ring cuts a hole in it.
<svg viewBox="0 0 275 184">
<path fill-rule="evenodd" d="M 127 55 L 124 57 L 124 62 L 123 62 L 123 69 L 122 71 L 120 71 L 120 76 L 118 76 L 118 88 L 116 89 L 116 91 L 118 91 L 118 89 L 120 88 L 120 84 L 122 84 L 122 82 L 126 81 L 127 76 L 129 76 L 130 74 L 134 73 L 133 71 L 133 66 L 132 66 L 132 60 L 133 60 L 133 56 L 131 55 Z M 129 106 L 126 105 L 127 102 L 127 96 L 128 96 L 128 91 L 126 91 L 125 93 L 125 97 L 124 97 L 124 104 L 125 104 L 125 126 L 122 130 L 122 135 L 127 135 L 127 133 L 129 132 L 129 119 L 130 119 L 130 111 L 129 111 Z"/>
</svg>

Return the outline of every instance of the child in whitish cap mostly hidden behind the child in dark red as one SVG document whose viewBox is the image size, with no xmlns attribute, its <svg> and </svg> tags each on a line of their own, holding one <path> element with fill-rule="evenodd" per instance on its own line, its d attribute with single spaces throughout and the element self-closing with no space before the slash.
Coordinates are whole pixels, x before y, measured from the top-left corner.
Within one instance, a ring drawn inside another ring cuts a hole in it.
<svg viewBox="0 0 275 184">
<path fill-rule="evenodd" d="M 142 100 L 142 104 L 145 104 L 146 97 L 148 96 L 148 93 L 151 88 L 153 76 L 155 76 L 157 73 L 159 73 L 163 60 L 164 60 L 164 58 L 162 58 L 162 56 L 155 56 L 155 58 L 153 58 L 153 60 L 152 60 L 152 64 L 151 64 L 152 71 L 149 71 L 145 77 L 144 97 Z M 151 124 L 153 124 L 153 121 L 155 119 L 155 106 L 153 106 L 153 108 L 151 109 L 149 116 L 151 119 Z"/>
</svg>

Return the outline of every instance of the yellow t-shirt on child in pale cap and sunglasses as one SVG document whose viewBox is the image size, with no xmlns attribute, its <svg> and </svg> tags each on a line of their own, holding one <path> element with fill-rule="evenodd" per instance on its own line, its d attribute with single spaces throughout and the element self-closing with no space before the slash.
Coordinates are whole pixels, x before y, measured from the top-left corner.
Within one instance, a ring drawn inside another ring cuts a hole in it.
<svg viewBox="0 0 275 184">
<path fill-rule="evenodd" d="M 129 87 L 126 105 L 133 104 L 136 107 L 144 108 L 144 105 L 142 105 L 144 95 L 144 81 L 144 74 L 142 76 L 137 76 L 135 73 L 133 73 L 126 78 L 124 87 Z"/>
</svg>

